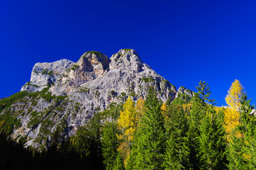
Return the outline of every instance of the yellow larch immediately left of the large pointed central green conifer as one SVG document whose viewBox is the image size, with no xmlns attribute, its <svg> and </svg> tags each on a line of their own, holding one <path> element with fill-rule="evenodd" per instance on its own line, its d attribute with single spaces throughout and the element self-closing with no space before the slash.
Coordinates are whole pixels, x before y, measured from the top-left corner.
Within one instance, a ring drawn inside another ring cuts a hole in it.
<svg viewBox="0 0 256 170">
<path fill-rule="evenodd" d="M 136 122 L 136 110 L 135 103 L 132 101 L 131 97 L 127 98 L 124 103 L 124 111 L 120 111 L 120 117 L 117 122 L 117 127 L 121 130 L 121 134 L 117 135 L 120 141 L 118 151 L 122 154 L 124 160 L 124 166 L 127 164 L 127 159 L 131 152 L 131 141 L 133 140 L 133 135 L 135 131 Z"/>
</svg>

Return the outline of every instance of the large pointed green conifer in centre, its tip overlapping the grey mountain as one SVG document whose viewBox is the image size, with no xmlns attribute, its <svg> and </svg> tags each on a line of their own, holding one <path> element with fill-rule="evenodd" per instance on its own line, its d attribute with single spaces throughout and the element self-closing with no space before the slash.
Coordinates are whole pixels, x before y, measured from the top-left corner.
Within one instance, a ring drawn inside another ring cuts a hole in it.
<svg viewBox="0 0 256 170">
<path fill-rule="evenodd" d="M 166 137 L 161 113 L 161 102 L 153 89 L 149 89 L 129 169 L 163 169 Z"/>
</svg>

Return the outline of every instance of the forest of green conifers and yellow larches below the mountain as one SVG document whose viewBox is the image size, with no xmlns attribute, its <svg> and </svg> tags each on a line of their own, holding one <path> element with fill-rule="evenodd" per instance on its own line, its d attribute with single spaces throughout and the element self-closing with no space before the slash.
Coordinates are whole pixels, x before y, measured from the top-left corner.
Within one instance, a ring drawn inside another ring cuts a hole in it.
<svg viewBox="0 0 256 170">
<path fill-rule="evenodd" d="M 215 106 L 205 81 L 196 89 L 171 103 L 153 87 L 146 98 L 112 103 L 68 140 L 53 135 L 47 149 L 6 139 L 2 120 L 1 169 L 255 169 L 255 110 L 240 81 L 225 107 Z"/>
</svg>

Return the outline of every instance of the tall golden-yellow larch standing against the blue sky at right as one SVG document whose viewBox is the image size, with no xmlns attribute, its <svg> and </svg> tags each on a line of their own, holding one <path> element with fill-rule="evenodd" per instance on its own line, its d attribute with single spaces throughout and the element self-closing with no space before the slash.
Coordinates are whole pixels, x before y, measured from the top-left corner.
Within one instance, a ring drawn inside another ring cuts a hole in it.
<svg viewBox="0 0 256 170">
<path fill-rule="evenodd" d="M 240 100 L 243 94 L 243 89 L 244 88 L 240 84 L 240 81 L 235 79 L 235 81 L 230 86 L 230 89 L 228 90 L 228 95 L 225 98 L 225 101 L 228 104 L 228 107 L 225 108 L 225 111 L 224 111 L 224 123 L 225 123 L 224 127 L 225 127 L 225 131 L 228 134 L 228 140 L 232 130 L 234 130 L 235 127 L 240 125 L 239 110 L 240 110 Z"/>
</svg>

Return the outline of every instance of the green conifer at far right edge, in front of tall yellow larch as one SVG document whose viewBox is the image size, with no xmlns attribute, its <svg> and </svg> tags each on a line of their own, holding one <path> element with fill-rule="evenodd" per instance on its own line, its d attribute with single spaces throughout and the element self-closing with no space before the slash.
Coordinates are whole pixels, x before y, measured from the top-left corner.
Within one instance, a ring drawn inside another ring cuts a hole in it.
<svg viewBox="0 0 256 170">
<path fill-rule="evenodd" d="M 240 101 L 240 125 L 233 130 L 228 143 L 228 161 L 230 169 L 255 169 L 256 166 L 256 119 L 255 110 L 247 100 L 247 95 L 242 94 Z"/>
</svg>

